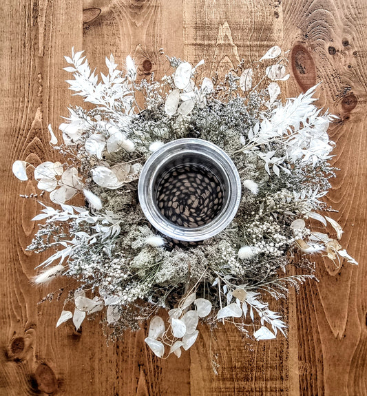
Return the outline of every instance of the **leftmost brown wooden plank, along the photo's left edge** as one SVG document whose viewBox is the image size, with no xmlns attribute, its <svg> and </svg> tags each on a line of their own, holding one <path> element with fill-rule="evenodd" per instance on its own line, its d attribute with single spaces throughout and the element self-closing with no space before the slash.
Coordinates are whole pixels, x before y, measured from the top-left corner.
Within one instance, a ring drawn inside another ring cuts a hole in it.
<svg viewBox="0 0 367 396">
<path fill-rule="evenodd" d="M 21 158 L 35 165 L 52 158 L 47 125 L 71 95 L 63 92 L 61 54 L 81 41 L 73 1 L 3 1 L 1 23 L 1 395 L 34 395 L 59 388 L 72 350 L 61 349 L 63 332 L 54 331 L 60 304 L 37 306 L 47 289 L 30 284 L 40 257 L 25 247 L 32 239 L 36 213 L 32 200 L 19 194 L 36 192 L 32 183 L 17 183 L 10 164 Z M 65 12 L 60 12 L 65 10 Z M 73 18 L 70 18 L 73 15 Z M 79 24 L 80 25 L 80 24 Z M 25 187 L 26 185 L 26 187 Z M 54 286 L 57 289 L 57 285 Z M 52 323 L 52 324 L 51 324 Z"/>
</svg>

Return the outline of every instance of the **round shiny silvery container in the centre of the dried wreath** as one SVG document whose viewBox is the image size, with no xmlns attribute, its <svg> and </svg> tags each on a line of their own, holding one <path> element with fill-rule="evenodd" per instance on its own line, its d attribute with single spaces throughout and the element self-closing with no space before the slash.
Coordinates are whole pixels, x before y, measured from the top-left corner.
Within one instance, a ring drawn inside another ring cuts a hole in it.
<svg viewBox="0 0 367 396">
<path fill-rule="evenodd" d="M 151 154 L 140 174 L 138 196 L 154 228 L 174 240 L 196 242 L 215 236 L 233 220 L 241 182 L 222 149 L 185 138 Z"/>
</svg>

